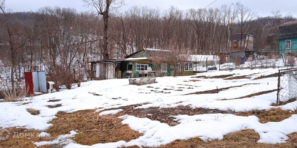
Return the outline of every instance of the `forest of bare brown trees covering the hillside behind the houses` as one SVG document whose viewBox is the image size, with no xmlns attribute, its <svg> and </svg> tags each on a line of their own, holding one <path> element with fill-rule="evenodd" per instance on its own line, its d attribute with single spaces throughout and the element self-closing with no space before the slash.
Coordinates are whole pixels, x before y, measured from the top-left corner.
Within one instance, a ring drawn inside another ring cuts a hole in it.
<svg viewBox="0 0 297 148">
<path fill-rule="evenodd" d="M 6 76 L 11 87 L 22 81 L 24 70 L 36 68 L 32 65 L 44 68 L 51 79 L 57 79 L 58 72 L 68 73 L 67 79 L 71 79 L 73 69 L 75 77 L 89 76 L 88 61 L 122 58 L 143 48 L 174 47 L 180 53 L 207 55 L 226 52 L 232 33 L 251 32 L 255 50 L 261 50 L 270 46 L 266 40 L 277 33 L 279 24 L 295 20 L 277 10 L 270 17 L 259 18 L 240 3 L 189 10 L 172 6 L 165 11 L 137 6 L 118 11 L 113 7 L 106 13 L 106 6 L 84 2 L 97 6 L 97 11 L 43 7 L 36 12 L 12 13 L 0 0 L 1 76 Z M 121 6 L 121 2 L 115 4 Z"/>
</svg>

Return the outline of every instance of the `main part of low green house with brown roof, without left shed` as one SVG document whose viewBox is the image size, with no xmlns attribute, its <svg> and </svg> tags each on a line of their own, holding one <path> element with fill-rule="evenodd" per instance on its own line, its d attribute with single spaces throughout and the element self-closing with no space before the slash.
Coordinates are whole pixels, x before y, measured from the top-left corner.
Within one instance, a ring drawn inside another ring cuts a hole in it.
<svg viewBox="0 0 297 148">
<path fill-rule="evenodd" d="M 195 62 L 181 59 L 169 50 L 144 48 L 121 62 L 122 78 L 193 75 Z"/>
</svg>

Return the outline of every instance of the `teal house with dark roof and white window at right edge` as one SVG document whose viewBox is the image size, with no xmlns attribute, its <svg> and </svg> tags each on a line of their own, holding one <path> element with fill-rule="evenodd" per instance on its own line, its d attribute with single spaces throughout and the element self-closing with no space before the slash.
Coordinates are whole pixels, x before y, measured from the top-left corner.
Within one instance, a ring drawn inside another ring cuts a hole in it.
<svg viewBox="0 0 297 148">
<path fill-rule="evenodd" d="M 297 53 L 297 21 L 286 22 L 278 29 L 279 55 Z"/>
</svg>

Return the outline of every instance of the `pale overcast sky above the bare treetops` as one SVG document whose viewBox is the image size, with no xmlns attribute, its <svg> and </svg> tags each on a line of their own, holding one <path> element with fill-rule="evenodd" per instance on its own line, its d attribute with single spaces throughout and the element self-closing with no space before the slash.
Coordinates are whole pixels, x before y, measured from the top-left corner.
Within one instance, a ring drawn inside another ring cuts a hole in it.
<svg viewBox="0 0 297 148">
<path fill-rule="evenodd" d="M 121 9 L 128 10 L 131 6 L 158 7 L 166 10 L 170 6 L 178 7 L 181 10 L 189 8 L 204 8 L 215 0 L 126 0 L 125 6 Z M 259 16 L 271 15 L 271 10 L 278 9 L 282 15 L 288 13 L 297 17 L 297 0 L 217 0 L 210 7 L 219 7 L 222 4 L 241 2 L 243 5 L 257 12 Z M 90 10 L 84 7 L 81 0 L 6 0 L 6 8 L 13 11 L 36 11 L 44 6 L 72 7 L 78 12 Z"/>
</svg>

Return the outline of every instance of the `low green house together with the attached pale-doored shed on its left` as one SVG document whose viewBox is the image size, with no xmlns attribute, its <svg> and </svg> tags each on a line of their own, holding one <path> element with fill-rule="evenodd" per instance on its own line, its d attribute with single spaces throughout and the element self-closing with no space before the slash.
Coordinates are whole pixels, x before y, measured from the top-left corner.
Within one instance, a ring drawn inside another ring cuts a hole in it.
<svg viewBox="0 0 297 148">
<path fill-rule="evenodd" d="M 104 80 L 193 75 L 193 66 L 199 62 L 191 61 L 190 55 L 187 57 L 183 54 L 174 54 L 170 50 L 144 48 L 122 59 L 89 63 L 91 63 L 91 78 Z"/>
</svg>

